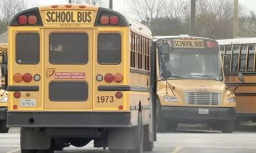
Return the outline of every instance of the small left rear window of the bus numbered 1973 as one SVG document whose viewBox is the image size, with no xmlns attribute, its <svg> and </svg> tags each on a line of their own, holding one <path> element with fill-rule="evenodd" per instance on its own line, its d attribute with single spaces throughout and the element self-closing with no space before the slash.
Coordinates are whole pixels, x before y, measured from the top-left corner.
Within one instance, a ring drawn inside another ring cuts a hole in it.
<svg viewBox="0 0 256 153">
<path fill-rule="evenodd" d="M 40 37 L 38 33 L 17 33 L 16 63 L 35 65 L 40 58 Z"/>
</svg>

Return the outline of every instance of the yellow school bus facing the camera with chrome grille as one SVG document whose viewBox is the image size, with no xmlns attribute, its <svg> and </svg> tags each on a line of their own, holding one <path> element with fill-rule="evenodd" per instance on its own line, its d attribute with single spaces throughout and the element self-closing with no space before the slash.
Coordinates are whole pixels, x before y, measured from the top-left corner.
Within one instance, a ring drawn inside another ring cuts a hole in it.
<svg viewBox="0 0 256 153">
<path fill-rule="evenodd" d="M 206 123 L 232 133 L 236 97 L 226 89 L 218 43 L 203 37 L 156 36 L 158 130 Z"/>
</svg>

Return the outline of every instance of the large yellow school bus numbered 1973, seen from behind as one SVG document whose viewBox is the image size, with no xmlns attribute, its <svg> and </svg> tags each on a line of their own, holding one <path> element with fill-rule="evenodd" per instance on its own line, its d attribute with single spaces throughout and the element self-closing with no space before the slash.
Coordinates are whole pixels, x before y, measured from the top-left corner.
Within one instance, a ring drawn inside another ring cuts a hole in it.
<svg viewBox="0 0 256 153">
<path fill-rule="evenodd" d="M 8 126 L 21 127 L 21 152 L 91 140 L 153 149 L 150 29 L 103 7 L 51 5 L 16 14 L 8 37 Z"/>
</svg>

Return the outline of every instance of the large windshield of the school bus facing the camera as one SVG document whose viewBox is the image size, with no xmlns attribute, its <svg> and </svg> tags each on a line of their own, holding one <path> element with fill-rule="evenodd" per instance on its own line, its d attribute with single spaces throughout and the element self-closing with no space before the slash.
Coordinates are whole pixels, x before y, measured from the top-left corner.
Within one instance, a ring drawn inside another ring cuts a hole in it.
<svg viewBox="0 0 256 153">
<path fill-rule="evenodd" d="M 218 49 L 175 48 L 169 62 L 160 62 L 160 72 L 166 70 L 171 71 L 169 79 L 223 80 Z"/>
</svg>

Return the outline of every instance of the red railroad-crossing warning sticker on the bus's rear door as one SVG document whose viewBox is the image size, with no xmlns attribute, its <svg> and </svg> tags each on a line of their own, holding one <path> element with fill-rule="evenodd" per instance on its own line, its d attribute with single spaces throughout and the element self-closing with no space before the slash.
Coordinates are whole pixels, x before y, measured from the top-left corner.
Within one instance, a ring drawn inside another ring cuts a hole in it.
<svg viewBox="0 0 256 153">
<path fill-rule="evenodd" d="M 85 73 L 81 72 L 56 72 L 55 79 L 85 79 Z"/>
</svg>

